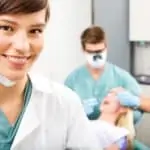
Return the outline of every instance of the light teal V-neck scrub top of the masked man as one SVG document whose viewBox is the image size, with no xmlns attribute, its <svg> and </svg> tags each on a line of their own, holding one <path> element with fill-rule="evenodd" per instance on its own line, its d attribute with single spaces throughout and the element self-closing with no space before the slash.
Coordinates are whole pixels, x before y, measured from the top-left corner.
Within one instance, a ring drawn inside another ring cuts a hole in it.
<svg viewBox="0 0 150 150">
<path fill-rule="evenodd" d="M 123 87 L 140 95 L 141 89 L 137 81 L 125 70 L 114 64 L 107 63 L 104 72 L 98 80 L 94 80 L 87 67 L 81 66 L 73 71 L 65 80 L 65 85 L 75 91 L 82 100 L 89 119 L 96 119 L 99 115 L 99 105 L 111 89 Z M 142 117 L 142 112 L 134 112 L 135 123 Z"/>
</svg>

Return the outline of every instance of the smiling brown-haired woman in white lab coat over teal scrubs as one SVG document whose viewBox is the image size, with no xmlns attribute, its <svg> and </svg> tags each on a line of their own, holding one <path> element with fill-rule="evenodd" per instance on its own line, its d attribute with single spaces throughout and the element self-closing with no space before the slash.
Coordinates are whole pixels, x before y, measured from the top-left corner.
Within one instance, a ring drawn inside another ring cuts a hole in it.
<svg viewBox="0 0 150 150">
<path fill-rule="evenodd" d="M 101 149 L 79 98 L 28 74 L 48 19 L 48 0 L 0 0 L 0 150 Z"/>
</svg>

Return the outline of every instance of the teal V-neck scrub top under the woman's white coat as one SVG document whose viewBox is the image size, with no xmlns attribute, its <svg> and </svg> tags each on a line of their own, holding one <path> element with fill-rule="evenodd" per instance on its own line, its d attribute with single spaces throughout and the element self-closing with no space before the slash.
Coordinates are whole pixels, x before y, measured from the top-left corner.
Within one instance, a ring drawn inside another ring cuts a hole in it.
<svg viewBox="0 0 150 150">
<path fill-rule="evenodd" d="M 25 112 L 25 108 L 29 102 L 31 91 L 32 86 L 29 80 L 24 91 L 24 107 L 14 125 L 9 123 L 5 114 L 0 110 L 0 150 L 10 150 Z"/>
</svg>

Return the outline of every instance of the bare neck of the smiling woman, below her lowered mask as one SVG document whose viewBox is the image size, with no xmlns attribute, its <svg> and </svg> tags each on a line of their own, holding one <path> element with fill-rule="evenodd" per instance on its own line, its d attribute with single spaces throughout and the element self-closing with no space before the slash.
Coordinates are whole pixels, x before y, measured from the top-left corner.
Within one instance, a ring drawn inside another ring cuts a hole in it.
<svg viewBox="0 0 150 150">
<path fill-rule="evenodd" d="M 17 83 L 12 87 L 8 88 L 0 85 L 0 104 L 20 98 L 23 94 L 26 82 L 27 76 L 22 80 L 17 81 Z"/>
</svg>

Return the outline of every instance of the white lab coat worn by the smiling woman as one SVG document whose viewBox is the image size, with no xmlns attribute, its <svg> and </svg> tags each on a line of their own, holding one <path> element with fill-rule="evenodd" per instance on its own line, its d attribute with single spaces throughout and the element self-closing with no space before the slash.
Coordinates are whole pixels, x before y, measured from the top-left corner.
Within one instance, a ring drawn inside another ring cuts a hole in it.
<svg viewBox="0 0 150 150">
<path fill-rule="evenodd" d="M 30 78 L 31 99 L 11 150 L 101 150 L 78 96 L 46 78 Z"/>
</svg>

